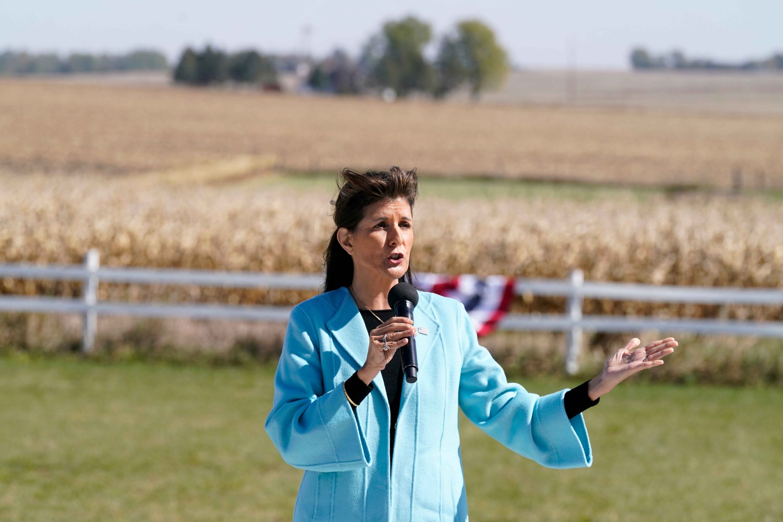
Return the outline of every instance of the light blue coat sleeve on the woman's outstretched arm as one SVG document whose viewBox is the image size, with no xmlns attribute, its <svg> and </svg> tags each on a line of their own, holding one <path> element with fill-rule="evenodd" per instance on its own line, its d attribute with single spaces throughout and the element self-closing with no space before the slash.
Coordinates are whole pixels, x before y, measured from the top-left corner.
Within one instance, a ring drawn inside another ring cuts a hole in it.
<svg viewBox="0 0 783 522">
<path fill-rule="evenodd" d="M 509 383 L 503 367 L 478 344 L 464 304 L 457 301 L 463 355 L 460 409 L 471 422 L 511 451 L 549 468 L 590 467 L 593 452 L 582 413 L 568 419 L 564 395 L 540 396 Z"/>
</svg>

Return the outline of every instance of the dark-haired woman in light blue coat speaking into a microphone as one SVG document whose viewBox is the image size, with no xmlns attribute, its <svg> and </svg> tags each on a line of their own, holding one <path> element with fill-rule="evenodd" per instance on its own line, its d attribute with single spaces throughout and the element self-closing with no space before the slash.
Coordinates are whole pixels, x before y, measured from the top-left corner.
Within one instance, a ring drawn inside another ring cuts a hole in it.
<svg viewBox="0 0 783 522">
<path fill-rule="evenodd" d="M 467 520 L 458 408 L 511 451 L 550 468 L 593 463 L 583 410 L 641 369 L 663 364 L 669 337 L 631 339 L 579 387 L 539 396 L 509 383 L 464 305 L 414 281 L 416 169 L 342 171 L 323 293 L 290 313 L 265 430 L 305 470 L 297 520 Z M 387 297 L 417 286 L 413 322 Z M 416 383 L 399 347 L 415 336 Z"/>
</svg>

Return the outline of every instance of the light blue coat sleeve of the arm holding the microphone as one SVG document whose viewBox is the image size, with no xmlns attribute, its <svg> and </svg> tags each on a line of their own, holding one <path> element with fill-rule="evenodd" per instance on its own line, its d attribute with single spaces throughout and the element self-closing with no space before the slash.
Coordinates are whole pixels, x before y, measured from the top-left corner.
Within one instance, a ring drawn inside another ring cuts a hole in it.
<svg viewBox="0 0 783 522">
<path fill-rule="evenodd" d="M 302 470 L 344 471 L 373 463 L 358 413 L 342 383 L 324 392 L 318 335 L 299 305 L 290 313 L 275 373 L 266 433 L 283 460 Z"/>
</svg>

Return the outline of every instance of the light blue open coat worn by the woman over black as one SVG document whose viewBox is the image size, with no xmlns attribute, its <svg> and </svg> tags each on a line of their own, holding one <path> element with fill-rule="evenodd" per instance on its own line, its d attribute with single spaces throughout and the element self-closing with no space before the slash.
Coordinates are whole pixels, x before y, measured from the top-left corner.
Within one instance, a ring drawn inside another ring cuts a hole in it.
<svg viewBox="0 0 783 522">
<path fill-rule="evenodd" d="M 419 292 L 418 381 L 402 383 L 392 466 L 381 373 L 355 409 L 342 383 L 363 365 L 370 336 L 348 288 L 290 312 L 265 430 L 283 460 L 305 470 L 294 522 L 467 521 L 458 410 L 511 451 L 550 468 L 593 463 L 582 413 L 568 419 L 565 388 L 548 395 L 509 383 L 464 305 Z M 469 451 L 469 450 L 468 450 Z"/>
</svg>

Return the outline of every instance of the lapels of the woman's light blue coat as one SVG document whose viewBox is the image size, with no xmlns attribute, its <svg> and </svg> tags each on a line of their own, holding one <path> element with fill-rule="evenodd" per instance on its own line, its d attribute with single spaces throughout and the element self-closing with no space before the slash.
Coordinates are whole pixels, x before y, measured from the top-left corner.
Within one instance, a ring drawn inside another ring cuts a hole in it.
<svg viewBox="0 0 783 522">
<path fill-rule="evenodd" d="M 330 330 L 334 339 L 337 341 L 339 347 L 348 354 L 351 364 L 354 369 L 362 367 L 367 358 L 367 347 L 370 345 L 370 334 L 367 333 L 367 327 L 364 324 L 359 308 L 356 307 L 356 303 L 353 300 L 351 292 L 348 291 L 347 286 L 341 286 L 337 291 L 342 293 L 342 300 L 337 311 L 334 313 L 331 319 L 327 321 L 327 328 Z M 339 301 L 339 297 L 338 297 Z M 431 309 L 431 298 L 428 292 L 419 292 L 419 303 L 416 308 L 413 309 L 413 326 L 424 326 L 428 329 L 427 335 L 419 333 L 416 337 L 416 355 L 419 363 L 419 379 L 426 378 L 427 366 L 424 364 L 427 355 L 431 351 L 431 347 L 438 339 L 440 323 L 435 319 L 435 314 Z M 381 393 L 386 405 L 389 404 L 388 396 L 386 395 L 386 385 L 384 384 L 384 378 L 379 372 L 377 376 L 373 378 L 373 384 L 377 391 Z M 405 405 L 406 398 L 410 395 L 411 388 L 416 384 L 407 383 L 406 380 L 402 380 L 402 397 L 400 398 L 399 409 L 402 412 L 402 407 Z"/>
</svg>

